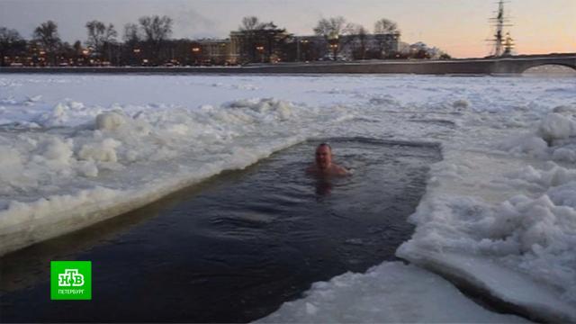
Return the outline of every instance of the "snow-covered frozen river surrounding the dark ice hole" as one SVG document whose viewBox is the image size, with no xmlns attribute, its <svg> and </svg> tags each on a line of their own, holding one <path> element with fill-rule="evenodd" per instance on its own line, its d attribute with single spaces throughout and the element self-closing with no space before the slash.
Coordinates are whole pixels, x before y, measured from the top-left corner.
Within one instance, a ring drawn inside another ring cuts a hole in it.
<svg viewBox="0 0 576 324">
<path fill-rule="evenodd" d="M 576 321 L 575 114 L 573 77 L 1 76 L 0 252 L 303 139 L 438 142 L 444 160 L 398 256 L 531 319 Z M 399 267 L 344 277 L 375 304 L 382 287 L 367 283 Z M 319 292 L 297 320 L 338 318 Z"/>
</svg>

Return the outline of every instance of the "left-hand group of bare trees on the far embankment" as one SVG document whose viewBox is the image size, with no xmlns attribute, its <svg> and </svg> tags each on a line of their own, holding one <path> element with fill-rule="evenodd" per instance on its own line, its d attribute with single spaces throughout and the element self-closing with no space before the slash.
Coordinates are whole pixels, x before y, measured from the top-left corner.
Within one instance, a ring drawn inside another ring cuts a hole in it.
<svg viewBox="0 0 576 324">
<path fill-rule="evenodd" d="M 33 65 L 130 65 L 148 58 L 151 64 L 159 64 L 170 55 L 165 46 L 172 33 L 173 21 L 168 16 L 143 16 L 138 23 L 124 26 L 122 40 L 112 23 L 90 21 L 85 24 L 87 39 L 83 44 L 62 41 L 58 24 L 53 21 L 40 23 L 32 33 L 31 40 L 24 40 L 14 29 L 0 27 L 0 65 L 6 66 L 6 58 L 29 58 Z M 173 45 L 173 44 L 171 44 Z M 174 46 L 170 46 L 174 50 Z M 22 59 L 21 59 L 22 60 Z"/>
</svg>

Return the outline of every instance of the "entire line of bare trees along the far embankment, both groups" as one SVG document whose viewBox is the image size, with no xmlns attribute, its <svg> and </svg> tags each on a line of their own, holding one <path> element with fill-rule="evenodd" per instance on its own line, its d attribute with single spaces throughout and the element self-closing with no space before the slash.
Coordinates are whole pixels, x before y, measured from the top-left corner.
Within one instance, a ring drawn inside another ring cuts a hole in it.
<svg viewBox="0 0 576 324">
<path fill-rule="evenodd" d="M 142 16 L 138 22 L 123 26 L 120 40 L 112 23 L 94 20 L 85 23 L 87 38 L 84 43 L 76 40 L 72 44 L 61 40 L 58 24 L 52 21 L 40 23 L 31 40 L 25 40 L 14 29 L 0 27 L 0 66 L 14 62 L 33 66 L 206 63 L 199 61 L 198 53 L 194 52 L 201 46 L 198 40 L 170 38 L 173 24 L 166 15 Z M 391 35 L 398 41 L 401 35 L 398 25 L 388 19 L 374 23 L 373 33 L 360 24 L 347 23 L 341 16 L 320 19 L 313 31 L 316 38 L 302 40 L 273 22 L 264 23 L 255 16 L 245 17 L 236 31 L 238 62 L 337 59 L 346 48 L 352 48 L 354 59 L 406 58 L 414 54 L 384 50 Z"/>
</svg>

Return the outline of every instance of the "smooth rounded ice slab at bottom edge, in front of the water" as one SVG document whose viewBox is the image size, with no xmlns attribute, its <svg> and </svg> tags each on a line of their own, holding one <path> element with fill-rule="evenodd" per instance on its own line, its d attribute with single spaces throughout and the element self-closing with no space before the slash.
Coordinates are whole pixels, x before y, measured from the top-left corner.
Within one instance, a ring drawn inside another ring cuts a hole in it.
<svg viewBox="0 0 576 324">
<path fill-rule="evenodd" d="M 523 323 L 483 309 L 439 275 L 388 262 L 312 285 L 260 323 Z"/>
</svg>

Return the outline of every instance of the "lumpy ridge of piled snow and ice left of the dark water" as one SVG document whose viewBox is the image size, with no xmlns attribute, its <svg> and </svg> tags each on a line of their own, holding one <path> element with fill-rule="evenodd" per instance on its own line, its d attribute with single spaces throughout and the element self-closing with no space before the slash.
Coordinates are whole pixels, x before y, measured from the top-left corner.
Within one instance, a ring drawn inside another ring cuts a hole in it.
<svg viewBox="0 0 576 324">
<path fill-rule="evenodd" d="M 64 101 L 28 121 L 33 127 L 4 125 L 0 254 L 254 164 L 314 134 L 305 121 L 346 119 L 274 99 L 111 108 Z"/>
</svg>

